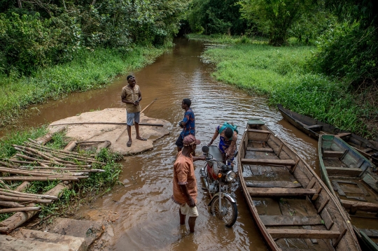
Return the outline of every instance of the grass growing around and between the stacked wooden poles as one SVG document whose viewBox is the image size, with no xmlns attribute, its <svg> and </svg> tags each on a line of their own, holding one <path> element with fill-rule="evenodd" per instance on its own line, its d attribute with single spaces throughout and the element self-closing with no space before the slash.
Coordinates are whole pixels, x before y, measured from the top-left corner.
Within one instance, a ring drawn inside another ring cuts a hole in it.
<svg viewBox="0 0 378 251">
<path fill-rule="evenodd" d="M 27 131 L 18 131 L 8 134 L 7 136 L 1 138 L 0 141 L 0 159 L 8 159 L 15 155 L 17 151 L 12 145 L 22 145 L 28 138 L 36 139 L 47 133 L 45 127 L 39 127 L 36 129 L 28 129 Z M 67 138 L 63 133 L 55 134 L 52 140 L 49 141 L 45 146 L 48 148 L 62 150 L 71 139 Z M 94 150 L 79 150 L 80 155 L 89 156 L 94 154 Z M 122 165 L 117 162 L 122 159 L 123 156 L 116 152 L 104 148 L 99 152 L 95 159 L 99 162 L 106 163 L 105 166 L 99 164 L 93 164 L 93 168 L 104 169 L 103 173 L 90 173 L 90 177 L 80 180 L 80 182 L 74 182 L 72 189 L 65 189 L 63 191 L 62 197 L 53 203 L 48 205 L 39 204 L 37 206 L 41 207 L 41 212 L 38 217 L 43 220 L 48 215 L 59 216 L 59 215 L 72 215 L 76 212 L 78 207 L 83 203 L 90 203 L 97 199 L 97 197 L 102 196 L 102 194 L 109 192 L 111 188 L 116 185 L 118 178 L 122 171 Z M 80 164 L 80 162 L 78 162 Z M 7 185 L 11 189 L 15 189 L 20 185 L 22 181 L 7 182 Z M 43 194 L 48 190 L 52 189 L 59 183 L 59 180 L 51 181 L 32 181 L 31 185 L 25 189 L 24 192 L 31 194 Z M 0 183 L 0 188 L 4 188 Z M 0 214 L 0 222 L 6 220 L 8 217 L 13 215 L 13 213 Z M 51 219 L 51 218 L 50 218 Z"/>
</svg>

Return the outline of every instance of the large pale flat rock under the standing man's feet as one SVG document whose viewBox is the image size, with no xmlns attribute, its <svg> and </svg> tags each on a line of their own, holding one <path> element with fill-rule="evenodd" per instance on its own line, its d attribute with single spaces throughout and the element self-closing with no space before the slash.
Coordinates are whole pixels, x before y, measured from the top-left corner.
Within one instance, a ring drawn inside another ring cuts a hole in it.
<svg viewBox="0 0 378 251">
<path fill-rule="evenodd" d="M 64 123 L 83 123 L 83 122 L 126 122 L 125 108 L 107 108 L 104 110 L 95 110 L 93 112 L 81 113 L 78 116 L 66 117 L 63 120 L 52 122 L 54 124 Z M 139 134 L 147 141 L 137 140 L 135 127 L 132 127 L 132 146 L 127 147 L 129 140 L 127 136 L 126 125 L 123 124 L 76 124 L 67 125 L 66 136 L 75 138 L 76 141 L 110 141 L 111 150 L 120 152 L 122 155 L 135 155 L 146 150 L 153 149 L 153 143 L 169 134 L 172 124 L 167 120 L 159 120 L 146 117 L 141 113 L 141 123 L 163 124 L 163 127 L 139 126 Z M 53 127 L 50 127 L 53 128 Z M 119 137 L 119 138 L 118 138 Z"/>
</svg>

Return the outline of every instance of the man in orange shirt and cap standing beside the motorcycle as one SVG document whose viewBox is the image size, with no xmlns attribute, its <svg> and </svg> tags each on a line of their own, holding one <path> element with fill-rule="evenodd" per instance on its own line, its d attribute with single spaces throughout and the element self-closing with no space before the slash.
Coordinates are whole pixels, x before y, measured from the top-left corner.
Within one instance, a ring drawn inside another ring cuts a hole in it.
<svg viewBox="0 0 378 251">
<path fill-rule="evenodd" d="M 180 205 L 180 224 L 185 224 L 186 215 L 188 215 L 190 232 L 195 230 L 195 220 L 198 212 L 195 204 L 197 203 L 197 180 L 193 162 L 196 160 L 204 160 L 205 157 L 193 157 L 191 152 L 201 141 L 195 136 L 188 135 L 183 138 L 183 149 L 177 154 L 176 162 L 174 162 L 174 180 L 172 199 Z"/>
</svg>

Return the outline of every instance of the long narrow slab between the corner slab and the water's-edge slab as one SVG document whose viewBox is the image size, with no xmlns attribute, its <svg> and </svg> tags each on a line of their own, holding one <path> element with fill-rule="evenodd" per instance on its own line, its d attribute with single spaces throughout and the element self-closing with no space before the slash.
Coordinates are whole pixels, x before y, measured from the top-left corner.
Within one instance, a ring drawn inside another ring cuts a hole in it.
<svg viewBox="0 0 378 251">
<path fill-rule="evenodd" d="M 31 229 L 16 229 L 12 232 L 14 238 L 22 241 L 39 241 L 43 243 L 55 243 L 66 245 L 72 251 L 86 251 L 88 249 L 84 238 L 74 236 L 62 236 L 49 232 L 36 231 Z"/>
</svg>

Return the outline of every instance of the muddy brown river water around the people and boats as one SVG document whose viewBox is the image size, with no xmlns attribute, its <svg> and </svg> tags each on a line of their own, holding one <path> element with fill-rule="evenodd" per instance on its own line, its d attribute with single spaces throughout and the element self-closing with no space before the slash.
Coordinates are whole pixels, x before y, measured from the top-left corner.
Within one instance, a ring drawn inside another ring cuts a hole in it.
<svg viewBox="0 0 378 251">
<path fill-rule="evenodd" d="M 92 209 L 117 213 L 118 220 L 112 223 L 114 237 L 106 250 L 267 250 L 239 189 L 234 194 L 239 216 L 231 229 L 209 214 L 209 198 L 201 189 L 197 198 L 200 216 L 195 234 L 188 234 L 188 224 L 179 225 L 179 208 L 170 197 L 176 153 L 174 142 L 181 131 L 177 123 L 183 117 L 181 101 L 192 100 L 196 136 L 203 144 L 210 141 L 218 124 L 234 122 L 242 131 L 249 117 L 261 117 L 319 174 L 317 141 L 283 120 L 276 108 L 267 106 L 265 98 L 249 96 L 211 78 L 212 66 L 200 59 L 204 50 L 202 43 L 185 39 L 176 39 L 175 43 L 174 49 L 134 73 L 141 87 L 142 108 L 158 98 L 145 111 L 146 115 L 172 122 L 171 134 L 155 142 L 153 150 L 127 157 L 120 178 L 125 186 L 116 186 L 90 207 L 81 208 L 78 214 L 85 215 Z M 30 109 L 35 114 L 23 123 L 35 126 L 90 110 L 124 107 L 120 91 L 125 85 L 127 81 L 122 77 L 106 89 L 71 94 L 36 106 Z M 195 163 L 199 185 L 202 185 L 199 169 L 203 165 L 203 162 Z"/>
</svg>

